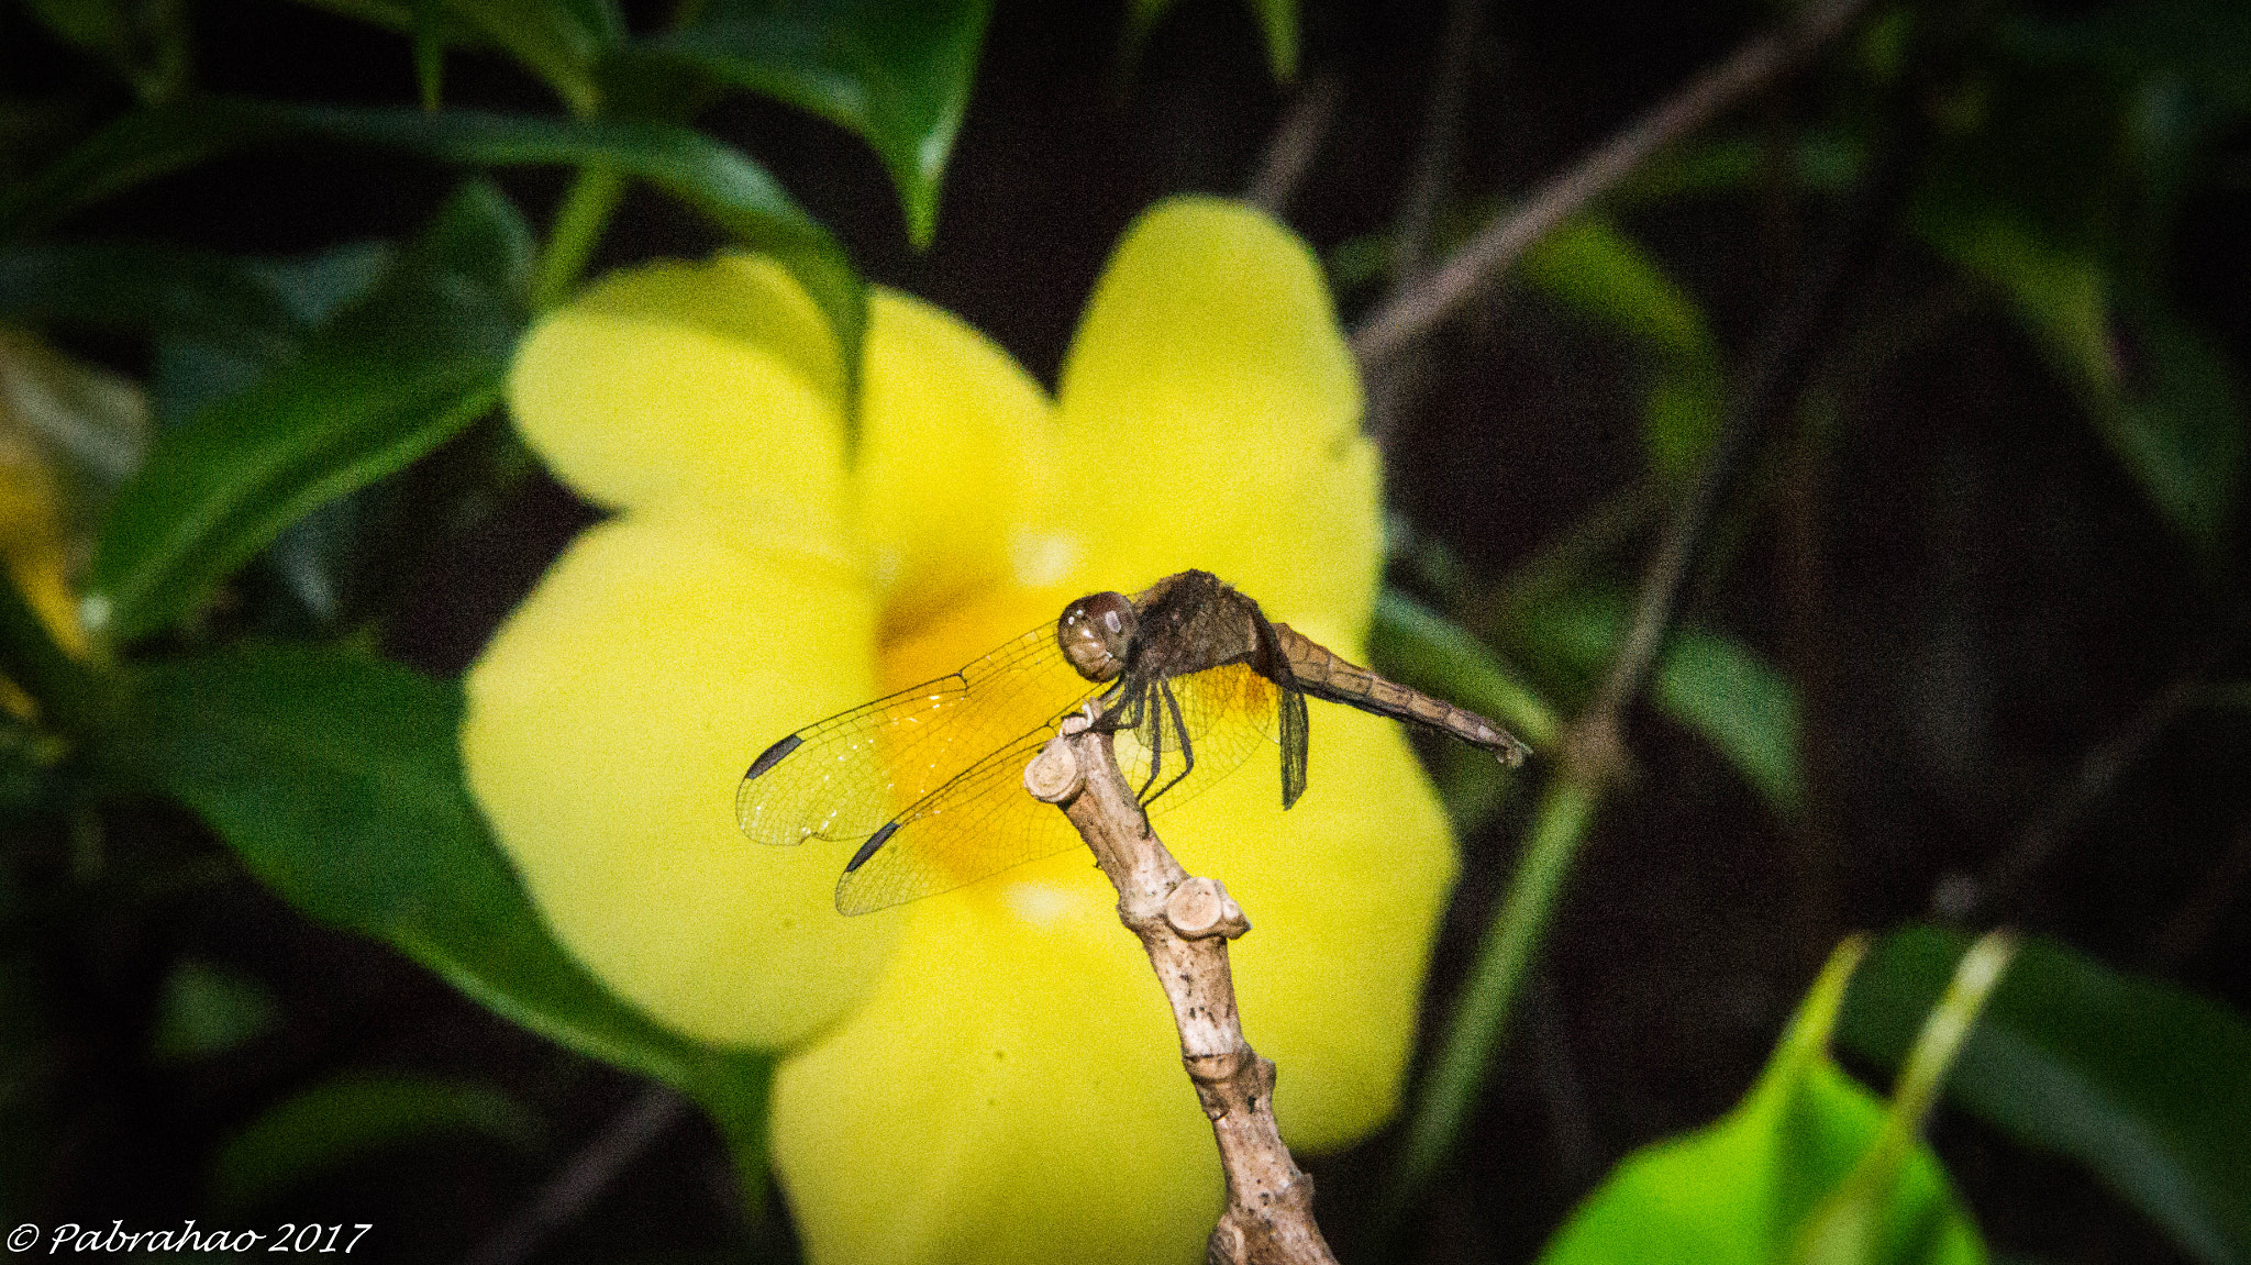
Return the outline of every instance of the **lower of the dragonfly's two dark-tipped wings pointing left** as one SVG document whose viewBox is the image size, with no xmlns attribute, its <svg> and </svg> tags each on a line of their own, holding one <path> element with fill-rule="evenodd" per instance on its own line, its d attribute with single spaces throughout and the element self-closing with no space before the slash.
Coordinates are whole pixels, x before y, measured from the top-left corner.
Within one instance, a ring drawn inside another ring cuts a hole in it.
<svg viewBox="0 0 2251 1265">
<path fill-rule="evenodd" d="M 1024 790 L 1024 765 L 1053 736 L 1042 725 L 887 822 L 837 880 L 837 912 L 889 909 L 1078 846 L 1071 819 Z"/>
</svg>

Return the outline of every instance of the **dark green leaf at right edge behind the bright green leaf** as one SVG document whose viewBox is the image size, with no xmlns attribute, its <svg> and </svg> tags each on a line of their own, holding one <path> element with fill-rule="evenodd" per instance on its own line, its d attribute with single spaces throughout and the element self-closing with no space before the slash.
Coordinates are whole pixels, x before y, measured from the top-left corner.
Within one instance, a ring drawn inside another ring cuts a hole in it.
<svg viewBox="0 0 2251 1265">
<path fill-rule="evenodd" d="M 1909 927 L 1853 986 L 1841 1040 L 1898 1062 L 1965 936 Z M 2183 988 L 2028 939 L 1947 1096 L 2069 1155 L 2208 1265 L 2251 1260 L 2251 1024 Z"/>
</svg>

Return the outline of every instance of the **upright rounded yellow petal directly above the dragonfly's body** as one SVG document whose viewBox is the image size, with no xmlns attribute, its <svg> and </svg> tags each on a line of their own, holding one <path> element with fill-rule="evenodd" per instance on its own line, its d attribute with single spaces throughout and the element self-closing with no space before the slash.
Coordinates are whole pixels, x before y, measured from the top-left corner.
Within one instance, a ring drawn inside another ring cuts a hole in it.
<svg viewBox="0 0 2251 1265">
<path fill-rule="evenodd" d="M 1276 619 L 1366 619 L 1382 549 L 1360 378 L 1312 254 L 1216 198 L 1144 214 L 1062 367 L 1085 578 L 1202 567 Z M 1069 468 L 1069 466 L 1067 466 Z"/>
</svg>

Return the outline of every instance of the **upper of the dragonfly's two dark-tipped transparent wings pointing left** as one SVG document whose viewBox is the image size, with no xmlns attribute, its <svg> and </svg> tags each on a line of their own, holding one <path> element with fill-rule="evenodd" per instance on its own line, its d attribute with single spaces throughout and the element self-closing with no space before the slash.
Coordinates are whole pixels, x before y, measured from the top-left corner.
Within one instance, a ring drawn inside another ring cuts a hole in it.
<svg viewBox="0 0 2251 1265">
<path fill-rule="evenodd" d="M 736 788 L 734 817 L 761 844 L 864 840 L 1098 691 L 1062 657 L 1056 626 L 1042 623 L 957 673 L 774 743 Z"/>
</svg>

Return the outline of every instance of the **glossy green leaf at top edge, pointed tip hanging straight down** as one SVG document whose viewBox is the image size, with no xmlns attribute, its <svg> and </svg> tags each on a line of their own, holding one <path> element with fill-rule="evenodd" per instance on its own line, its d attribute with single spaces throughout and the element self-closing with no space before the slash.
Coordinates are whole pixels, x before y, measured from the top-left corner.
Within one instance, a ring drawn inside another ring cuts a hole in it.
<svg viewBox="0 0 2251 1265">
<path fill-rule="evenodd" d="M 678 32 L 630 45 L 619 95 L 702 77 L 810 110 L 867 140 L 898 187 L 907 236 L 930 245 L 939 182 L 977 79 L 990 0 L 711 0 Z"/>
</svg>

